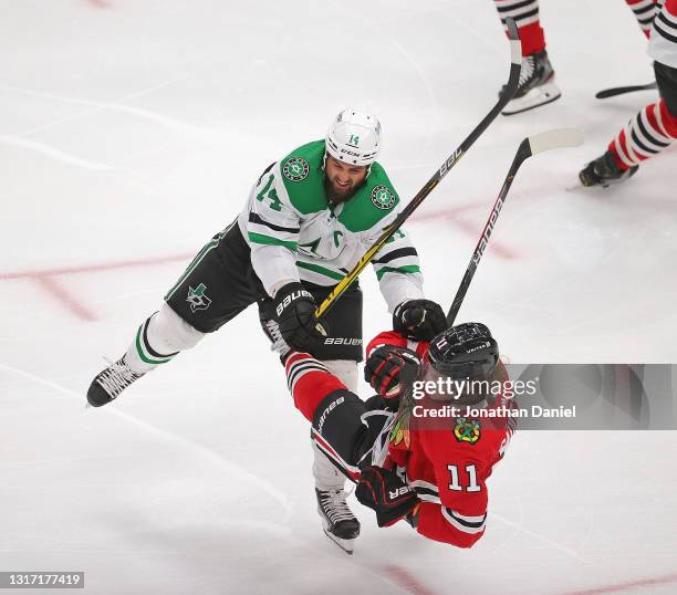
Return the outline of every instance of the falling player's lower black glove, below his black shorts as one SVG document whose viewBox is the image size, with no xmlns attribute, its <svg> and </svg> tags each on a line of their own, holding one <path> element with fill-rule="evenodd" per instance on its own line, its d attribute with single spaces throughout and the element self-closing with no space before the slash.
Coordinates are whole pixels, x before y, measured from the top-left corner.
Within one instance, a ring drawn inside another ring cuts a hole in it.
<svg viewBox="0 0 677 595">
<path fill-rule="evenodd" d="M 362 504 L 376 511 L 378 526 L 389 526 L 404 519 L 419 501 L 395 471 L 376 466 L 360 472 L 355 495 Z"/>
</svg>

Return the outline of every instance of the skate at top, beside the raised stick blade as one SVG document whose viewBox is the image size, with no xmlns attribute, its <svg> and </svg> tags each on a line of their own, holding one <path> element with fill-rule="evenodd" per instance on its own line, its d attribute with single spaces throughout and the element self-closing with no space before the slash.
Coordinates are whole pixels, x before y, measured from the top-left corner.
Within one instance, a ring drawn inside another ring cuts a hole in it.
<svg viewBox="0 0 677 595">
<path fill-rule="evenodd" d="M 501 90 L 501 93 L 506 90 Z M 560 87 L 554 82 L 554 71 L 548 59 L 548 52 L 543 50 L 535 54 L 522 58 L 522 72 L 520 84 L 514 97 L 503 108 L 504 116 L 527 112 L 539 105 L 545 105 L 559 100 L 562 95 Z"/>
</svg>

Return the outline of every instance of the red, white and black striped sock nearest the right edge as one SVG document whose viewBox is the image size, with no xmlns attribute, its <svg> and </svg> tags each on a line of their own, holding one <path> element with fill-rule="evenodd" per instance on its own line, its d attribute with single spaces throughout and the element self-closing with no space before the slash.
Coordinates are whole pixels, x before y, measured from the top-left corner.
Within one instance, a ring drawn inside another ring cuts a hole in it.
<svg viewBox="0 0 677 595">
<path fill-rule="evenodd" d="M 677 138 L 677 116 L 664 100 L 644 107 L 617 134 L 608 150 L 622 171 L 660 153 Z"/>
</svg>

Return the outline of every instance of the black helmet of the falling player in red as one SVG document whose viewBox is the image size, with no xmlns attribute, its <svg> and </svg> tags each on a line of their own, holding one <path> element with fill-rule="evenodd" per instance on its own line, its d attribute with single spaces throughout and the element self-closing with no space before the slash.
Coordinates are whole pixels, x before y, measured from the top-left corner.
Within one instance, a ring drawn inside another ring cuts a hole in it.
<svg viewBox="0 0 677 595">
<path fill-rule="evenodd" d="M 428 361 L 444 376 L 483 380 L 498 365 L 498 343 L 486 325 L 466 322 L 447 328 L 430 342 Z"/>
</svg>

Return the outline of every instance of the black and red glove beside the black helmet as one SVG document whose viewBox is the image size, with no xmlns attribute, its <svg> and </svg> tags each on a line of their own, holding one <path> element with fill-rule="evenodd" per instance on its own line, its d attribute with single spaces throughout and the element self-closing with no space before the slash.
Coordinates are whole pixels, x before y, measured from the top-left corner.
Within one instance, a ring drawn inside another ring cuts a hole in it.
<svg viewBox="0 0 677 595">
<path fill-rule="evenodd" d="M 420 358 L 412 349 L 395 345 L 382 345 L 374 349 L 364 363 L 364 379 L 382 397 L 392 399 L 416 380 Z"/>
</svg>

